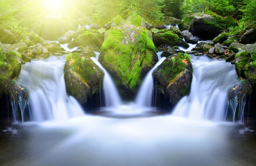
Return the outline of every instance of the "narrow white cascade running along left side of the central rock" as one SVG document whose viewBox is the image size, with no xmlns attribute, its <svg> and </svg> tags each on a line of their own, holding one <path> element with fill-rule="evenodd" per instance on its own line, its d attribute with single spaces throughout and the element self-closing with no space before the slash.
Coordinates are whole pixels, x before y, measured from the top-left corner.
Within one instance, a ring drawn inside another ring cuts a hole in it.
<svg viewBox="0 0 256 166">
<path fill-rule="evenodd" d="M 101 68 L 105 74 L 103 79 L 103 90 L 105 96 L 105 106 L 106 107 L 119 107 L 122 104 L 121 97 L 116 89 L 116 85 L 114 84 L 110 74 L 108 71 L 103 68 L 103 66 L 99 63 L 99 53 L 96 53 L 96 57 L 91 57 L 93 62 Z"/>
</svg>

